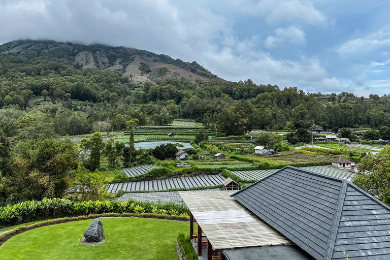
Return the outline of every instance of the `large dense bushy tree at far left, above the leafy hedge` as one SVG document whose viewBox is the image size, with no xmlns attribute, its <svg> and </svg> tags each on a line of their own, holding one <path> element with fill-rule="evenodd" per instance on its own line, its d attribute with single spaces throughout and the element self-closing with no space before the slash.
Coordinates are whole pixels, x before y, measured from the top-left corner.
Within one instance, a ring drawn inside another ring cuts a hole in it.
<svg viewBox="0 0 390 260">
<path fill-rule="evenodd" d="M 75 169 L 72 143 L 55 140 L 19 143 L 12 173 L 6 178 L 10 201 L 63 198 Z"/>
</svg>

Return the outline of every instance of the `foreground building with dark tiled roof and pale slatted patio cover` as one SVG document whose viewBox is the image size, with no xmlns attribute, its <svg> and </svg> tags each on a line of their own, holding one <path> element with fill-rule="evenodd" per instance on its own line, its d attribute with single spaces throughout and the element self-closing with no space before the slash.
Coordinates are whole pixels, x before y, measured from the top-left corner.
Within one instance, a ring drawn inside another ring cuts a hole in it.
<svg viewBox="0 0 390 260">
<path fill-rule="evenodd" d="M 179 193 L 208 260 L 390 259 L 390 207 L 345 179 L 287 166 L 236 192 Z"/>
</svg>

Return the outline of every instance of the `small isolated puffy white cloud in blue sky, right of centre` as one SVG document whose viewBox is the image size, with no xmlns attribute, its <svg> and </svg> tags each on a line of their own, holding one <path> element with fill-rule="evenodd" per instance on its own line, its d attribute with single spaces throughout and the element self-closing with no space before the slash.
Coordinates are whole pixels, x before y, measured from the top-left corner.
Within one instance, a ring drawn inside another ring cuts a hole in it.
<svg viewBox="0 0 390 260">
<path fill-rule="evenodd" d="M 275 36 L 269 36 L 265 41 L 266 48 L 281 47 L 284 45 L 303 45 L 305 44 L 305 32 L 295 26 L 287 28 L 277 28 Z"/>
</svg>

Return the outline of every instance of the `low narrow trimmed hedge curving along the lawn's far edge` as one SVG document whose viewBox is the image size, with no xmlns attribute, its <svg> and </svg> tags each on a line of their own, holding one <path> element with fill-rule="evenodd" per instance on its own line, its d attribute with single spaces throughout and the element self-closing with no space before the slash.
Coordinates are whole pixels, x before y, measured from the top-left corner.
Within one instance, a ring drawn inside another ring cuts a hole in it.
<svg viewBox="0 0 390 260">
<path fill-rule="evenodd" d="M 79 221 L 79 220 L 86 220 L 86 219 L 94 219 L 98 217 L 142 217 L 142 218 L 157 218 L 157 219 L 169 219 L 169 220 L 177 220 L 177 221 L 189 221 L 188 216 L 170 216 L 170 215 L 163 215 L 163 214 L 133 214 L 133 213 L 104 213 L 104 214 L 91 214 L 88 216 L 77 216 L 77 217 L 64 217 L 64 218 L 57 218 L 57 219 L 51 219 L 46 220 L 43 222 L 35 223 L 35 224 L 26 224 L 24 226 L 19 226 L 9 232 L 6 232 L 2 235 L 0 235 L 0 245 L 2 245 L 4 242 L 6 242 L 8 239 L 37 228 L 41 228 L 42 226 L 48 226 L 48 225 L 55 225 L 60 223 L 68 223 L 73 221 Z"/>
</svg>

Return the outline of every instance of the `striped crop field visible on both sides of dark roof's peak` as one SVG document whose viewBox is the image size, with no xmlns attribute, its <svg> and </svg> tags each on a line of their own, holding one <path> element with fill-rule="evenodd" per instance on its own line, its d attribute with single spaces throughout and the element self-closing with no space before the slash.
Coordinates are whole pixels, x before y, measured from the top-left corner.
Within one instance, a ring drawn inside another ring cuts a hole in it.
<svg viewBox="0 0 390 260">
<path fill-rule="evenodd" d="M 355 178 L 355 174 L 352 172 L 346 172 L 346 171 L 340 171 L 337 169 L 332 169 L 329 167 L 324 166 L 309 166 L 309 167 L 302 167 L 304 170 L 321 173 L 325 175 L 329 175 L 336 178 L 343 178 L 349 181 L 352 181 L 353 178 Z M 272 170 L 253 170 L 253 171 L 233 171 L 232 173 L 240 177 L 244 180 L 261 180 L 280 169 L 272 169 Z"/>
</svg>

